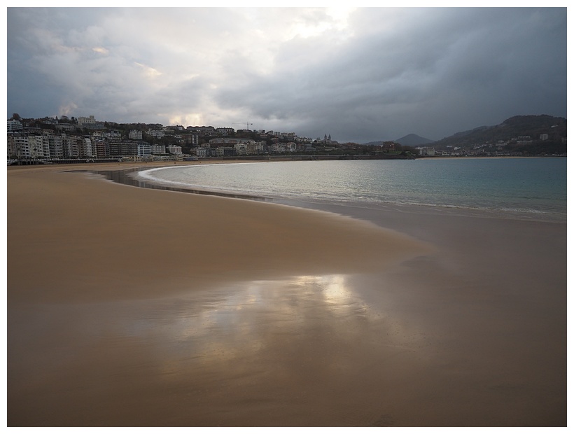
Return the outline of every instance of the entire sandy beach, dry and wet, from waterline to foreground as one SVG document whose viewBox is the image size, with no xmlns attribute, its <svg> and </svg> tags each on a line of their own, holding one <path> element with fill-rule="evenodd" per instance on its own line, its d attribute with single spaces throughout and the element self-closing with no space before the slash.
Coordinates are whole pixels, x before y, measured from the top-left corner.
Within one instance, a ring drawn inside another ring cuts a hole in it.
<svg viewBox="0 0 574 434">
<path fill-rule="evenodd" d="M 8 426 L 566 426 L 566 223 L 89 168 L 8 168 Z"/>
</svg>

